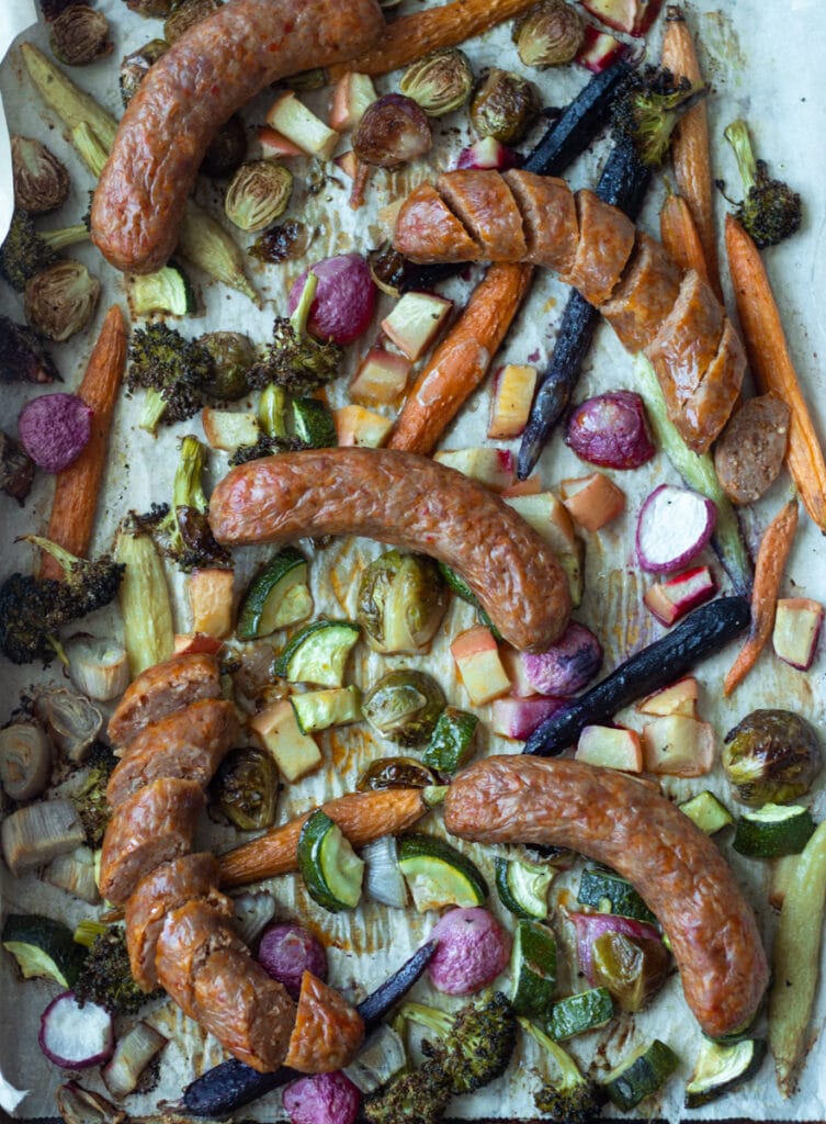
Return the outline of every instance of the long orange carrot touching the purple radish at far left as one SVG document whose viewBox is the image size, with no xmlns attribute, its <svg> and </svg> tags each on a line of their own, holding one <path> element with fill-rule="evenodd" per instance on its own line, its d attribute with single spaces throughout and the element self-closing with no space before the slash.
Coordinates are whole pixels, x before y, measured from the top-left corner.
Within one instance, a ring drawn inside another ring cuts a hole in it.
<svg viewBox="0 0 826 1124">
<path fill-rule="evenodd" d="M 57 473 L 46 537 L 85 558 L 106 468 L 109 430 L 126 365 L 126 325 L 119 305 L 106 315 L 78 393 L 92 411 L 92 433 L 73 464 Z M 62 578 L 63 568 L 44 554 L 42 578 Z"/>
</svg>

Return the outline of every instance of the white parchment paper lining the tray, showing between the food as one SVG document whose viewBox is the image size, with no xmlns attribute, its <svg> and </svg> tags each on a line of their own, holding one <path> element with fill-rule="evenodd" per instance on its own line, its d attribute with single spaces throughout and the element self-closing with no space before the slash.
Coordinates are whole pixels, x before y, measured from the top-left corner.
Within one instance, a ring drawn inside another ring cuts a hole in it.
<svg viewBox="0 0 826 1124">
<path fill-rule="evenodd" d="M 0 31 L 9 21 L 9 16 L 25 19 L 29 0 L 9 0 L 0 12 Z M 112 20 L 115 49 L 102 62 L 72 71 L 73 79 L 94 96 L 114 114 L 120 112 L 117 92 L 117 64 L 121 55 L 135 49 L 146 39 L 160 34 L 160 24 L 142 20 L 129 12 L 121 0 L 105 0 L 98 4 Z M 414 7 L 412 3 L 409 4 Z M 406 10 L 406 9 L 402 9 Z M 699 4 L 690 9 L 693 25 L 699 31 L 704 64 L 715 88 L 715 97 L 709 101 L 714 135 L 719 137 L 723 126 L 736 116 L 745 116 L 752 127 L 759 154 L 772 161 L 778 174 L 788 174 L 798 188 L 806 203 L 802 232 L 783 246 L 769 252 L 766 262 L 775 283 L 775 291 L 783 314 L 783 320 L 791 343 L 792 354 L 798 363 L 800 377 L 807 388 L 810 401 L 819 407 L 820 418 L 826 417 L 826 379 L 819 369 L 818 353 L 826 346 L 826 321 L 822 312 L 822 294 L 826 284 L 824 248 L 826 242 L 826 211 L 824 207 L 824 172 L 826 171 L 826 114 L 822 101 L 820 62 L 826 52 L 826 33 L 820 19 L 823 4 L 818 0 L 796 0 L 786 3 L 766 3 L 765 0 L 732 0 L 715 10 Z M 650 53 L 656 57 L 661 26 L 650 35 Z M 25 35 L 26 38 L 47 49 L 47 35 L 38 26 Z M 0 40 L 1 44 L 2 40 Z M 1 49 L 1 47 L 0 47 Z M 518 60 L 506 28 L 499 29 L 484 40 L 469 46 L 469 54 L 476 71 L 483 65 L 499 64 L 519 69 Z M 584 82 L 586 76 L 571 69 L 532 74 L 543 100 L 547 105 L 564 105 Z M 376 83 L 380 92 L 393 89 L 391 79 Z M 91 178 L 63 138 L 60 123 L 43 109 L 34 89 L 24 78 L 19 57 L 12 51 L 0 69 L 0 92 L 12 129 L 44 139 L 66 163 L 72 174 L 72 196 L 56 215 L 47 216 L 43 227 L 60 227 L 76 221 L 87 205 L 87 192 L 92 187 Z M 302 96 L 303 97 L 303 96 Z M 325 105 L 324 92 L 308 96 L 308 102 L 320 109 Z M 271 101 L 271 94 L 262 94 L 245 114 L 247 121 L 257 123 Z M 436 123 L 436 160 L 441 165 L 448 161 L 450 151 L 461 147 L 468 139 L 465 115 L 455 115 Z M 1 146 L 0 146 L 1 147 Z M 343 146 L 344 147 L 344 146 Z M 735 170 L 723 144 L 716 145 L 717 171 L 732 181 L 733 192 L 737 189 Z M 596 145 L 570 172 L 573 185 L 592 183 L 605 146 Z M 0 156 L 0 171 L 2 171 Z M 407 185 L 417 179 L 432 174 L 432 169 L 420 165 L 403 175 L 390 176 L 379 173 L 371 189 L 370 207 L 353 216 L 346 207 L 348 181 L 343 175 L 328 179 L 320 193 L 306 193 L 309 162 L 294 161 L 291 166 L 297 175 L 297 192 L 287 217 L 303 218 L 316 229 L 307 262 L 327 254 L 350 248 L 366 248 L 375 245 L 381 237 L 379 208 L 396 194 L 403 193 Z M 2 203 L 8 202 L 7 181 L 0 179 L 0 215 Z M 206 184 L 199 189 L 201 201 L 216 201 L 215 189 Z M 662 199 L 662 182 L 653 189 L 643 225 L 655 233 L 655 215 Z M 302 214 L 303 211 L 303 214 Z M 721 218 L 723 207 L 718 208 Z M 73 247 L 72 256 L 82 260 L 90 271 L 103 283 L 103 297 L 92 327 L 80 338 L 67 345 L 52 348 L 63 373 L 64 388 L 73 389 L 82 375 L 83 366 L 91 348 L 94 334 L 102 315 L 112 300 L 125 305 L 122 281 L 109 270 L 100 255 L 91 246 Z M 282 266 L 253 266 L 253 278 L 266 298 L 263 310 L 256 310 L 245 298 L 228 290 L 218 290 L 197 278 L 200 283 L 205 314 L 199 319 L 183 324 L 187 335 L 217 328 L 245 330 L 256 341 L 269 334 L 275 310 L 284 305 L 285 287 L 300 272 L 305 262 L 291 262 Z M 192 271 L 194 273 L 194 271 Z M 453 282 L 447 288 L 451 296 L 461 299 L 469 291 L 470 281 Z M 520 316 L 500 355 L 501 361 L 542 364 L 552 345 L 559 316 L 565 299 L 565 289 L 550 274 L 537 277 L 530 299 Z M 376 314 L 375 326 L 389 307 L 388 298 L 382 298 Z M 730 307 L 730 301 L 729 301 Z M 0 289 L 0 311 L 22 319 L 21 301 L 8 287 Z M 350 348 L 350 368 L 364 350 L 364 344 Z M 347 372 L 348 373 L 348 372 Z M 333 405 L 346 400 L 347 379 L 343 378 L 330 393 Z M 629 356 L 619 347 L 607 326 L 598 332 L 597 344 L 586 364 L 580 397 L 598 390 L 628 387 L 633 389 L 633 371 Z M 55 388 L 43 388 L 53 390 Z M 13 432 L 15 419 L 22 402 L 39 388 L 3 387 L 3 427 Z M 465 407 L 459 422 L 443 441 L 443 447 L 462 447 L 484 443 L 487 432 L 487 390 L 478 392 Z M 236 408 L 243 408 L 243 402 Z M 111 542 L 114 529 L 121 515 L 129 508 L 146 509 L 153 501 L 167 498 L 171 477 L 176 459 L 176 444 L 182 434 L 198 433 L 198 419 L 191 423 L 164 428 L 153 441 L 134 426 L 135 404 L 122 399 L 115 422 L 105 500 L 100 506 L 100 518 L 96 531 L 94 547 L 105 550 Z M 823 432 L 823 429 L 822 429 Z M 516 448 L 517 443 L 510 443 Z M 223 454 L 214 454 L 211 471 L 219 479 L 226 469 Z M 542 462 L 542 478 L 545 486 L 553 486 L 561 479 L 581 474 L 582 465 L 555 437 Z M 606 670 L 609 670 L 628 651 L 642 646 L 659 635 L 661 629 L 639 609 L 642 584 L 633 559 L 633 526 L 642 498 L 657 483 L 677 478 L 665 461 L 657 456 L 650 464 L 633 473 L 618 473 L 617 480 L 628 493 L 627 514 L 599 536 L 589 536 L 587 563 L 587 597 L 577 613 L 578 619 L 590 624 L 600 635 L 607 653 Z M 784 477 L 771 493 L 753 511 L 746 523 L 752 542 L 756 542 L 762 528 L 777 510 L 788 491 Z M 42 529 L 48 517 L 51 483 L 44 475 L 38 477 L 35 488 L 24 510 L 6 497 L 0 497 L 0 517 L 6 534 L 0 565 L 2 575 L 13 569 L 26 570 L 30 565 L 29 547 L 15 544 L 16 535 L 33 529 Z M 366 541 L 337 541 L 321 558 L 323 565 L 314 563 L 312 583 L 316 614 L 352 611 L 352 578 L 358 568 L 380 547 Z M 236 588 L 243 584 L 264 556 L 265 552 L 245 550 L 237 552 Z M 801 531 L 795 544 L 786 595 L 809 596 L 826 600 L 826 551 L 819 534 L 810 522 L 801 518 Z M 709 562 L 715 561 L 709 556 Z M 323 574 L 326 570 L 326 578 Z M 716 566 L 719 572 L 719 566 Z M 182 599 L 182 580 L 170 572 L 176 596 L 178 627 L 187 628 L 185 602 Z M 358 650 L 354 678 L 360 683 L 369 683 L 383 671 L 397 665 L 418 665 L 430 670 L 442 682 L 448 700 L 459 706 L 466 705 L 462 688 L 456 682 L 453 663 L 447 650 L 447 637 L 465 627 L 472 620 L 470 609 L 455 604 L 446 620 L 433 652 L 426 659 L 389 658 L 379 659 L 374 654 Z M 111 609 L 101 610 L 88 618 L 84 627 L 99 635 L 111 635 L 118 627 L 117 615 Z M 756 705 L 788 706 L 800 710 L 816 725 L 824 727 L 824 680 L 826 678 L 826 655 L 823 650 L 809 673 L 793 671 L 770 656 L 764 656 L 756 672 L 736 694 L 733 701 L 723 701 L 721 677 L 730 661 L 730 652 L 709 661 L 698 672 L 704 687 L 702 711 L 714 723 L 718 734 L 725 731 L 747 710 Z M 12 708 L 18 692 L 30 686 L 33 680 L 61 680 L 58 669 L 52 668 L 43 677 L 33 669 L 16 669 L 3 663 L 0 674 L 0 720 Z M 480 708 L 484 719 L 487 708 Z M 491 752 L 511 752 L 512 743 L 489 737 Z M 308 778 L 283 794 L 280 816 L 287 818 L 293 812 L 316 803 L 323 795 L 332 796 L 347 791 L 366 761 L 375 755 L 394 752 L 388 744 L 371 737 L 363 727 L 350 727 L 325 738 L 327 765 L 315 777 Z M 709 785 L 710 780 L 710 785 Z M 715 774 L 698 781 L 670 781 L 664 786 L 680 798 L 702 788 L 712 787 L 726 794 L 725 782 Z M 824 783 L 820 781 L 814 801 L 816 818 L 826 814 Z M 207 824 L 201 843 L 216 851 L 226 850 L 236 841 L 235 833 Z M 750 863 L 734 854 L 730 841 L 721 844 L 726 856 L 750 899 L 760 910 L 761 925 L 768 943 L 771 942 L 774 919 L 765 908 L 768 892 L 768 867 Z M 478 852 L 468 847 L 485 870 L 490 870 L 492 850 Z M 570 882 L 569 878 L 569 882 Z M 561 881 L 564 889 L 565 879 Z M 409 912 L 393 915 L 391 910 L 367 905 L 354 916 L 333 916 L 308 901 L 298 880 L 284 878 L 273 883 L 273 892 L 279 900 L 280 913 L 284 916 L 309 916 L 329 941 L 330 978 L 353 998 L 358 998 L 372 987 L 409 952 L 418 945 L 429 931 L 434 917 L 417 917 Z M 499 909 L 496 896 L 491 908 Z M 34 878 L 12 880 L 3 871 L 2 910 L 30 910 L 49 914 L 75 923 L 81 916 L 93 914 L 93 909 L 70 899 L 62 891 L 36 881 Z M 563 933 L 564 936 L 564 933 Z M 20 1104 L 0 1087 L 0 1104 L 7 1111 L 25 1117 L 54 1114 L 54 1090 L 63 1076 L 40 1057 L 36 1045 L 37 1019 L 54 987 L 42 981 L 25 985 L 16 980 L 10 960 L 2 957 L 2 999 L 0 1028 L 2 1031 L 2 1077 L 12 1087 L 27 1090 Z M 428 1001 L 426 985 L 417 992 L 423 1001 Z M 214 1064 L 223 1057 L 218 1044 L 205 1036 L 199 1028 L 185 1019 L 178 1008 L 165 1003 L 153 1008 L 147 1016 L 165 1033 L 171 1032 L 172 1043 L 165 1051 L 158 1086 L 149 1094 L 131 1097 L 127 1108 L 131 1115 L 152 1115 L 157 1112 L 161 1098 L 174 1099 L 182 1084 Z M 692 1120 L 743 1116 L 752 1120 L 826 1120 L 826 1040 L 819 1035 L 826 1017 L 826 988 L 820 988 L 815 1017 L 810 1027 L 810 1055 L 804 1072 L 801 1090 L 797 1097 L 784 1102 L 775 1086 L 771 1063 L 768 1062 L 760 1076 L 746 1089 L 698 1109 Z M 684 1079 L 688 1077 L 697 1045 L 699 1031 L 688 1013 L 674 977 L 653 1006 L 635 1019 L 623 1018 L 606 1032 L 598 1032 L 573 1044 L 573 1052 L 582 1061 L 598 1052 L 600 1058 L 612 1064 L 646 1037 L 659 1035 L 669 1042 L 681 1057 L 678 1075 L 669 1082 L 661 1098 L 651 1098 L 641 1106 L 646 1115 L 677 1120 L 681 1116 L 681 1097 Z M 452 1113 L 462 1120 L 529 1118 L 535 1115 L 532 1089 L 535 1078 L 532 1069 L 537 1062 L 533 1043 L 523 1043 L 508 1073 L 473 1098 L 457 1098 Z M 100 1088 L 96 1076 L 82 1075 L 81 1082 Z M 257 1120 L 281 1118 L 278 1094 L 249 1106 L 242 1114 Z"/>
</svg>

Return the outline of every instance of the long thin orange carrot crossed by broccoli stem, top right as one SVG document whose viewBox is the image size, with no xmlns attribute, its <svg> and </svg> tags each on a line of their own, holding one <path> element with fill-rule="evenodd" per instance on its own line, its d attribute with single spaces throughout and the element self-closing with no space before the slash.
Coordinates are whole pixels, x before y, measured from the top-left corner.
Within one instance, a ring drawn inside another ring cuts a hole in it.
<svg viewBox="0 0 826 1124">
<path fill-rule="evenodd" d="M 679 78 L 692 84 L 702 82 L 695 40 L 679 4 L 669 4 L 663 35 L 662 63 Z M 709 283 L 719 299 L 719 265 L 714 224 L 714 176 L 708 142 L 708 110 L 700 101 L 682 118 L 671 142 L 671 161 L 680 194 L 688 203 L 706 259 Z"/>
</svg>

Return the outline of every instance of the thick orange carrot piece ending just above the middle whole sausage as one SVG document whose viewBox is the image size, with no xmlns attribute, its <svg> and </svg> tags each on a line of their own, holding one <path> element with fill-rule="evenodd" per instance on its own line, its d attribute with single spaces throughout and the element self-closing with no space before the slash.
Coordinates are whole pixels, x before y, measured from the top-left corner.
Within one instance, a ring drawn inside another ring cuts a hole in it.
<svg viewBox="0 0 826 1124">
<path fill-rule="evenodd" d="M 427 455 L 479 386 L 528 291 L 533 269 L 499 262 L 471 293 L 464 311 L 407 396 L 389 448 Z"/>
</svg>

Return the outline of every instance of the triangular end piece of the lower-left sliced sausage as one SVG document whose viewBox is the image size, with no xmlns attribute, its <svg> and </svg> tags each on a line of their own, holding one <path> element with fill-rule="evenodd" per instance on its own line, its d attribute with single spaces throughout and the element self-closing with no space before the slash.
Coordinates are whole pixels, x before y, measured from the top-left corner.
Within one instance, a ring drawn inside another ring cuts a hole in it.
<svg viewBox="0 0 826 1124">
<path fill-rule="evenodd" d="M 312 972 L 305 972 L 287 1064 L 301 1073 L 332 1073 L 351 1063 L 363 1039 L 358 1012 Z"/>
</svg>

